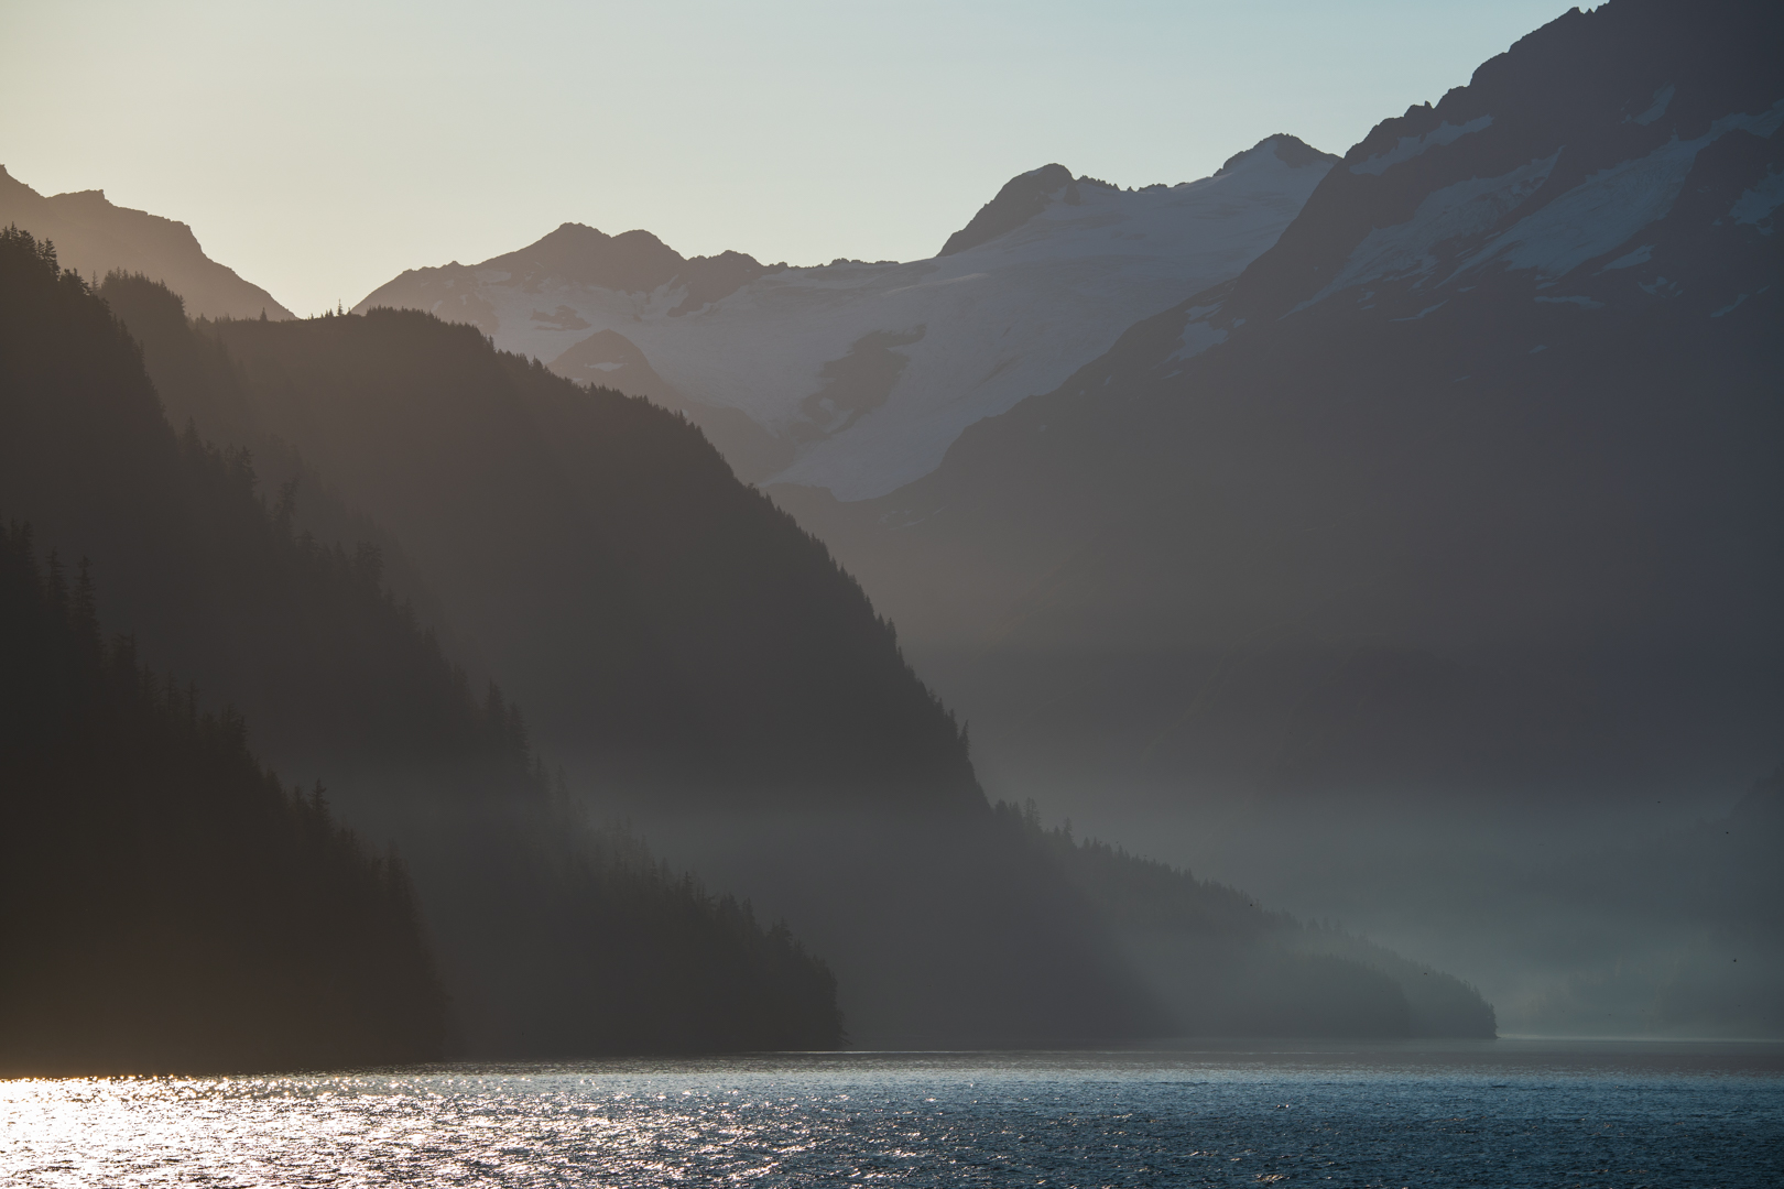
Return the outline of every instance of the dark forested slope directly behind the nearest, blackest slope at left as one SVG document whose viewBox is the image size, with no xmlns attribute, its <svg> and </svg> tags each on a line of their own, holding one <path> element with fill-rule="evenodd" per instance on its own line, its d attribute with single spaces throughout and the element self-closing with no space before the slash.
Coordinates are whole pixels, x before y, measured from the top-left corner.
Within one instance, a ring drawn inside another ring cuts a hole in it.
<svg viewBox="0 0 1784 1189">
<path fill-rule="evenodd" d="M 473 695 L 391 595 L 382 551 L 296 531 L 291 481 L 268 501 L 244 449 L 193 422 L 175 435 L 105 301 L 16 230 L 0 234 L 0 501 L 118 576 L 95 620 L 248 711 L 225 731 L 244 756 L 246 720 L 257 750 L 339 772 L 348 818 L 401 840 L 460 1052 L 840 1043 L 822 963 L 744 906 L 614 857 L 637 847 L 615 850 L 551 793 L 517 706 L 494 685 Z M 95 1068 L 127 1054 L 136 1034 L 120 1027 L 84 1050 Z M 169 1039 L 155 1061 L 203 1064 L 198 1052 Z M 266 1048 L 252 1062 L 291 1061 Z"/>
</svg>

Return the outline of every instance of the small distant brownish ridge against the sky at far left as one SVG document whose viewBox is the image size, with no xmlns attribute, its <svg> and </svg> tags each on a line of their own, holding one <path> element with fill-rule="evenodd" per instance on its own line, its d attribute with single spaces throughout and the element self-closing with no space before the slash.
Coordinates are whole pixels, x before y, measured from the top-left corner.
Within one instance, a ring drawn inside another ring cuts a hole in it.
<svg viewBox="0 0 1784 1189">
<path fill-rule="evenodd" d="M 143 273 L 186 298 L 203 317 L 291 317 L 291 310 L 205 255 L 193 228 L 146 210 L 114 207 L 105 191 L 43 196 L 0 166 L 0 226 L 55 244 L 62 267 L 98 282 Z"/>
</svg>

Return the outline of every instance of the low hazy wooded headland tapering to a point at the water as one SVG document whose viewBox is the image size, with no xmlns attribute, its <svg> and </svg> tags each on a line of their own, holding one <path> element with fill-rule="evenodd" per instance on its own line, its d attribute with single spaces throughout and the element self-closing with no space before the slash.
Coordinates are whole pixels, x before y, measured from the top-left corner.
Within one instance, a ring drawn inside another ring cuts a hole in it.
<svg viewBox="0 0 1784 1189">
<path fill-rule="evenodd" d="M 1497 1034 L 1491 1005 L 1452 975 L 1167 863 L 1076 840 L 1069 822 L 1049 829 L 1033 802 L 1001 800 L 995 816 L 1088 897 L 1179 1034 Z"/>
</svg>

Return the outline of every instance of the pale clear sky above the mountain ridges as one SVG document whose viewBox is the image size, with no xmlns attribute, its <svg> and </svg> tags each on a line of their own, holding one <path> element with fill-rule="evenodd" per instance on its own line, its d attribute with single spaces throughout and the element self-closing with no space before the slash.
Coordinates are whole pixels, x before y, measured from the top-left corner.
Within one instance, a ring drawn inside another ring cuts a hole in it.
<svg viewBox="0 0 1784 1189">
<path fill-rule="evenodd" d="M 558 223 L 683 255 L 933 255 L 1058 160 L 1343 152 L 1557 0 L 0 0 L 0 164 L 189 223 L 298 314 Z"/>
</svg>

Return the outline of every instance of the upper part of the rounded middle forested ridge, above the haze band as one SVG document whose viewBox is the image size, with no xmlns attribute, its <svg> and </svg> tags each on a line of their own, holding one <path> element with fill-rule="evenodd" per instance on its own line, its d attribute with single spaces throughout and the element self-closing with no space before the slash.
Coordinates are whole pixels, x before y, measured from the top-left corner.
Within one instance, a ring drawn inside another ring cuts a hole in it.
<svg viewBox="0 0 1784 1189">
<path fill-rule="evenodd" d="M 553 754 L 696 800 L 983 804 L 890 626 L 681 419 L 416 312 L 209 333 Z"/>
</svg>

